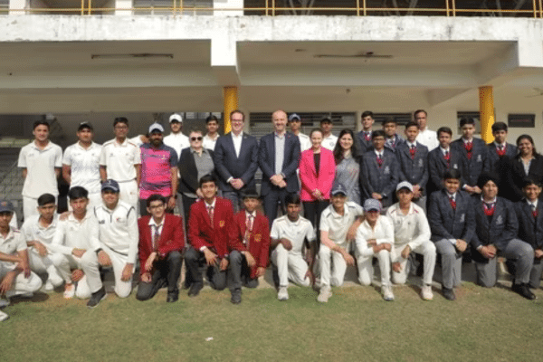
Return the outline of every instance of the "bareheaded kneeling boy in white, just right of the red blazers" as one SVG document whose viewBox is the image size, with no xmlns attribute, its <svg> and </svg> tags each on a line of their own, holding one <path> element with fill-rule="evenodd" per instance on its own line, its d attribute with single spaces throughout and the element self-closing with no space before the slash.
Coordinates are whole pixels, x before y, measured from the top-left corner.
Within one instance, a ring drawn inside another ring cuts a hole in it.
<svg viewBox="0 0 543 362">
<path fill-rule="evenodd" d="M 279 300 L 288 300 L 289 280 L 309 287 L 314 281 L 312 273 L 315 248 L 315 230 L 308 219 L 300 216 L 300 196 L 287 195 L 285 198 L 287 214 L 278 217 L 271 224 L 271 262 L 277 266 L 279 274 Z M 303 243 L 310 244 L 306 260 L 302 256 Z"/>
</svg>

